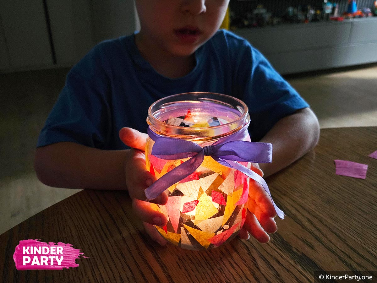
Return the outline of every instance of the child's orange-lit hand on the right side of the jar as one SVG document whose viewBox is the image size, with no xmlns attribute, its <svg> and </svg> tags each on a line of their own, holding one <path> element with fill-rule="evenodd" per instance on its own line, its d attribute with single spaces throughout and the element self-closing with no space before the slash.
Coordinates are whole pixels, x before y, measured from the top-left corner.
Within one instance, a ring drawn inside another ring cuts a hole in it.
<svg viewBox="0 0 377 283">
<path fill-rule="evenodd" d="M 253 165 L 251 170 L 263 176 L 259 165 L 257 163 Z M 249 238 L 248 233 L 250 233 L 259 242 L 267 243 L 270 240 L 270 236 L 267 233 L 275 233 L 277 231 L 276 222 L 273 218 L 276 216 L 276 211 L 270 196 L 262 185 L 252 179 L 250 179 L 247 208 L 246 222 L 238 236 L 247 240 Z"/>
</svg>

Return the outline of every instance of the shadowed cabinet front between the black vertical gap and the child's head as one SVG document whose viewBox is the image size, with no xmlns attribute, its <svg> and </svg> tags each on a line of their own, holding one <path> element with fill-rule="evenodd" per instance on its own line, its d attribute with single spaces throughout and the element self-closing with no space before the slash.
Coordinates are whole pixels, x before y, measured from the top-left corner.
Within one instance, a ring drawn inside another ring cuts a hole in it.
<svg viewBox="0 0 377 283">
<path fill-rule="evenodd" d="M 100 41 L 135 31 L 133 1 L 46 2 L 58 66 L 77 63 Z"/>
</svg>

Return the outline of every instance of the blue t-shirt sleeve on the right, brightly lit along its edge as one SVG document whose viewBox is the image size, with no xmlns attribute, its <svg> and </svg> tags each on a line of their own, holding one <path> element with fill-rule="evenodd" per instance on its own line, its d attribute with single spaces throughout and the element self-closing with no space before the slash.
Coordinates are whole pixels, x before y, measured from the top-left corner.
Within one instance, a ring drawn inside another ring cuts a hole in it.
<svg viewBox="0 0 377 283">
<path fill-rule="evenodd" d="M 309 105 L 261 52 L 247 41 L 240 49 L 233 79 L 235 91 L 249 109 L 251 140 L 259 141 L 281 118 Z"/>
</svg>

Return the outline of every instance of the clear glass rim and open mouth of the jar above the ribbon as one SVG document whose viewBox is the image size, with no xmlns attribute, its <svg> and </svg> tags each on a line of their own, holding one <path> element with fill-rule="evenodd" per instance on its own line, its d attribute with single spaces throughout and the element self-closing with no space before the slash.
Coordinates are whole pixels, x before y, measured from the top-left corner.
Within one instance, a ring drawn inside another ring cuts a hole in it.
<svg viewBox="0 0 377 283">
<path fill-rule="evenodd" d="M 228 135 L 249 121 L 244 102 L 209 92 L 181 93 L 159 99 L 149 107 L 147 118 L 154 132 L 190 140 Z"/>
</svg>

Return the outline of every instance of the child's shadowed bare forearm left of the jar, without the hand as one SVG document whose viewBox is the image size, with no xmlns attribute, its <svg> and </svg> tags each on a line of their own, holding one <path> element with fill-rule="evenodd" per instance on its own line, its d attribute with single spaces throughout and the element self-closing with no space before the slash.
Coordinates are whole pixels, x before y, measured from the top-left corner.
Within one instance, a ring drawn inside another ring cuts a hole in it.
<svg viewBox="0 0 377 283">
<path fill-rule="evenodd" d="M 126 190 L 123 163 L 129 150 L 100 150 L 74 142 L 37 148 L 38 179 L 58 188 Z"/>
</svg>

